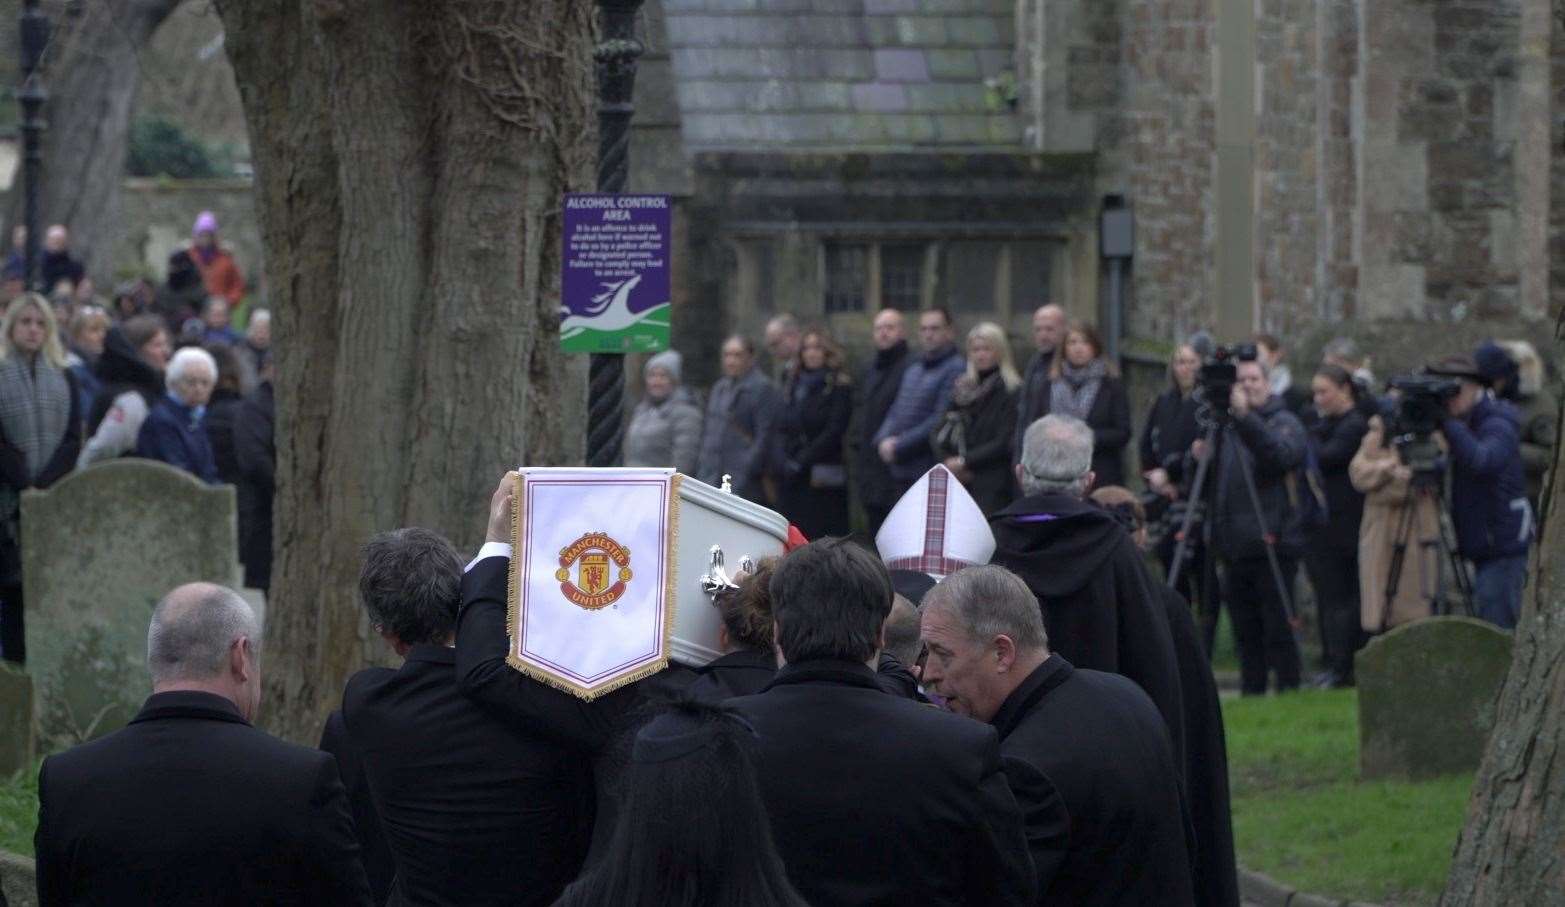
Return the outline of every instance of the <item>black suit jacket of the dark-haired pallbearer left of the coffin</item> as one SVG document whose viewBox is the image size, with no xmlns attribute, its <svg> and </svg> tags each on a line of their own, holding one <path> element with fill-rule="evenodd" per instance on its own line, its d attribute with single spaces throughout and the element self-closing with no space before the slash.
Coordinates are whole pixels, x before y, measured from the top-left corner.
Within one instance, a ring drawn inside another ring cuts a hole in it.
<svg viewBox="0 0 1565 907">
<path fill-rule="evenodd" d="M 551 904 L 581 868 L 582 762 L 480 710 L 455 663 L 455 649 L 413 646 L 401 668 L 360 671 L 343 693 L 398 865 L 388 904 Z"/>
</svg>

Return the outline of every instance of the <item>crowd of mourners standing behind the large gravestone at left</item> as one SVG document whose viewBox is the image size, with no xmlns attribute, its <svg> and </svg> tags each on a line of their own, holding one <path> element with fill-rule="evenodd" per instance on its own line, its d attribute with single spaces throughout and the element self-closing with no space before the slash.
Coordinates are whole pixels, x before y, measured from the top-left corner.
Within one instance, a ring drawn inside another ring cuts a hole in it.
<svg viewBox="0 0 1565 907">
<path fill-rule="evenodd" d="M 27 228 L 0 269 L 0 657 L 23 661 L 20 494 L 121 457 L 160 460 L 238 491 L 247 586 L 271 574 L 271 313 L 235 310 L 246 283 L 202 211 L 161 285 L 99 292 L 70 250 L 44 235 L 25 280 Z M 28 291 L 27 286 L 42 288 Z"/>
</svg>

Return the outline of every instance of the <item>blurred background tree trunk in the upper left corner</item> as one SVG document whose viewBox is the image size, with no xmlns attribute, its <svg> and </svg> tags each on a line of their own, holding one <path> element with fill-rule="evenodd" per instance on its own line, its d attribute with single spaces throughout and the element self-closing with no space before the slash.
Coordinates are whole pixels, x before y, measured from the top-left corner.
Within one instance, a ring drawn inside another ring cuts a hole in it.
<svg viewBox="0 0 1565 907">
<path fill-rule="evenodd" d="M 44 53 L 44 166 L 38 180 L 39 231 L 70 230 L 72 253 L 110 275 L 119 239 L 119 189 L 125 178 L 130 114 L 141 89 L 141 48 L 180 0 L 103 0 L 50 5 L 53 34 Z M 22 178 L 9 199 L 22 217 Z M 42 235 L 39 235 L 42 249 Z M 52 288 L 50 288 L 52 289 Z"/>
</svg>

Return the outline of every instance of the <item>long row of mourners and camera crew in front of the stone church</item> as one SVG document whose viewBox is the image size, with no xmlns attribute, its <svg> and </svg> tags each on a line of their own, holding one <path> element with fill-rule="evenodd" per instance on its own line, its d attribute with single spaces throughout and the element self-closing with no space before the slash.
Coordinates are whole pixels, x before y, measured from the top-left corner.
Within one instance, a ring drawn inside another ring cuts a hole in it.
<svg viewBox="0 0 1565 907">
<path fill-rule="evenodd" d="M 1326 344 L 1308 380 L 1296 382 L 1283 344 L 1255 336 L 1254 353 L 1232 361 L 1232 399 L 1213 407 L 1199 375 L 1216 350 L 1196 335 L 1177 347 L 1167 388 L 1138 418 L 1099 332 L 1056 305 L 1034 313 L 1036 352 L 1020 369 L 997 324 L 975 325 L 958 344 L 947 311 L 916 317 L 909 344 L 909 316 L 875 314 L 873 360 L 851 374 L 828 330 L 778 316 L 764 335 L 770 374 L 754 341 L 731 336 L 704 407 L 681 386 L 679 355 L 654 357 L 626 463 L 675 466 L 714 485 L 729 477 L 736 493 L 775 507 L 808 538 L 850 532 L 853 491 L 873 538 L 936 463 L 984 514 L 1003 511 L 1020 494 L 1014 471 L 1027 427 L 1052 413 L 1074 416 L 1092 428 L 1094 488 L 1128 485 L 1136 447 L 1136 507 L 1149 511 L 1157 558 L 1197 605 L 1207 651 L 1229 610 L 1244 693 L 1305 682 L 1294 597 L 1315 600 L 1322 665 L 1308 680 L 1327 687 L 1354 682 L 1354 654 L 1369 636 L 1421 616 L 1470 608 L 1515 626 L 1557 419 L 1529 342 L 1488 341 L 1423 369 L 1460 391 L 1443 399 L 1430 439 L 1435 471 L 1415 477 L 1399 391 L 1376 385 L 1347 338 Z M 1208 452 L 1214 408 L 1232 414 L 1233 432 L 1222 436 L 1235 443 L 1213 441 Z M 1208 454 L 1199 519 L 1186 529 L 1185 505 Z M 1441 514 L 1451 519 L 1444 547 Z M 1188 543 L 1177 552 L 1182 529 Z M 1299 566 L 1310 596 L 1294 596 Z"/>
</svg>

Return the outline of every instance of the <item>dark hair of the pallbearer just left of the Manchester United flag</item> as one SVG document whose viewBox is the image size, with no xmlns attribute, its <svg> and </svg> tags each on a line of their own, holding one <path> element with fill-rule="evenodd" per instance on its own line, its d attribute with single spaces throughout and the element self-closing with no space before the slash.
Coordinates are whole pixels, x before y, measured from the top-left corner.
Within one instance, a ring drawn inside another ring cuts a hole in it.
<svg viewBox="0 0 1565 907">
<path fill-rule="evenodd" d="M 444 643 L 457 626 L 462 558 L 446 536 L 394 529 L 360 550 L 358 596 L 369 621 L 408 646 Z"/>
</svg>

